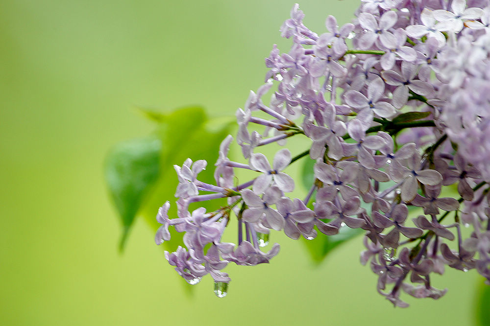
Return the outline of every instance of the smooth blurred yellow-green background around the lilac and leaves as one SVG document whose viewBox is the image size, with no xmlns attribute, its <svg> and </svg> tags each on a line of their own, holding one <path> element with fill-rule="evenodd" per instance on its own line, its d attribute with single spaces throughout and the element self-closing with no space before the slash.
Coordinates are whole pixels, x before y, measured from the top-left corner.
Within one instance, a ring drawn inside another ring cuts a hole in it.
<svg viewBox="0 0 490 326">
<path fill-rule="evenodd" d="M 293 4 L 1 1 L 0 325 L 475 323 L 475 273 L 447 271 L 434 278 L 445 297 L 405 296 L 411 307 L 393 309 L 359 264 L 362 238 L 316 266 L 302 243 L 274 233 L 281 253 L 230 265 L 225 299 L 209 276 L 189 295 L 143 219 L 119 254 L 102 167 L 112 145 L 153 130 L 136 107 L 234 116 L 262 85 L 272 44 L 289 50 L 279 26 Z M 357 5 L 300 3 L 318 33 L 327 15 L 345 23 Z"/>
</svg>

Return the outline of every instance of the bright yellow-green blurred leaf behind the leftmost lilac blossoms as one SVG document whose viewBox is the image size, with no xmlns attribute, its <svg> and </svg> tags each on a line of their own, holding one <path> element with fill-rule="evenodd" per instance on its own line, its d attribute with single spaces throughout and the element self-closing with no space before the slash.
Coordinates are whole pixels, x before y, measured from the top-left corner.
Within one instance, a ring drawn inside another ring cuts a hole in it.
<svg viewBox="0 0 490 326">
<path fill-rule="evenodd" d="M 156 231 L 160 224 L 155 220 L 158 208 L 170 201 L 169 217 L 176 217 L 177 210 L 174 197 L 178 184 L 173 165 L 182 165 L 187 158 L 193 161 L 206 160 L 206 170 L 199 173 L 199 180 L 215 184 L 213 177 L 214 163 L 218 159 L 221 141 L 230 133 L 232 123 L 229 120 L 210 119 L 203 108 L 186 107 L 171 113 L 155 113 L 158 116 L 156 137 L 161 140 L 160 175 L 152 187 L 148 199 L 142 207 L 142 215 Z M 225 205 L 225 199 L 199 202 L 191 205 L 189 210 L 204 207 L 208 211 L 216 210 Z M 165 241 L 163 247 L 175 251 L 182 245 L 182 233 L 170 228 L 171 240 Z"/>
</svg>

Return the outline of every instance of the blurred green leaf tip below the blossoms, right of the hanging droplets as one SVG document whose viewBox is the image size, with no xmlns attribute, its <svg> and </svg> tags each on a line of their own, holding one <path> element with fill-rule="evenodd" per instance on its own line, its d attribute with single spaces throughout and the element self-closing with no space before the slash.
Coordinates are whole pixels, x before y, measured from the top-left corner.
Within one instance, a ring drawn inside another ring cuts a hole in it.
<svg viewBox="0 0 490 326">
<path fill-rule="evenodd" d="M 362 233 L 364 231 L 361 229 L 351 229 L 345 226 L 335 235 L 325 235 L 319 232 L 313 240 L 307 240 L 305 238 L 302 240 L 313 261 L 319 264 L 332 250 Z"/>
</svg>

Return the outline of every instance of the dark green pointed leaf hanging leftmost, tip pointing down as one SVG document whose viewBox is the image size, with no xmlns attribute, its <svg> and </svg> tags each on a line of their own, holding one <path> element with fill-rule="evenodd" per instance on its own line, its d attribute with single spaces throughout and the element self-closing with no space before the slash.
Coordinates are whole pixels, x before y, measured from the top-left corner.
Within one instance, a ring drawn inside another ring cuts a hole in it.
<svg viewBox="0 0 490 326">
<path fill-rule="evenodd" d="M 161 147 L 156 138 L 127 140 L 107 156 L 105 179 L 123 225 L 121 251 L 147 190 L 158 178 Z"/>
</svg>

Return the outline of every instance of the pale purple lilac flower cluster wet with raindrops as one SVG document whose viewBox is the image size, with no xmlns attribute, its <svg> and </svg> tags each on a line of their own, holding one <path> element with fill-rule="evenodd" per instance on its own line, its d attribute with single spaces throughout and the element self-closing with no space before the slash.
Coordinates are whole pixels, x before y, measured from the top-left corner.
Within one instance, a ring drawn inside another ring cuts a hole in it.
<svg viewBox="0 0 490 326">
<path fill-rule="evenodd" d="M 168 217 L 167 202 L 155 240 L 169 240 L 169 226 L 185 233 L 187 249 L 166 257 L 189 283 L 210 274 L 222 297 L 228 263 L 278 254 L 278 244 L 260 250 L 271 229 L 311 240 L 344 227 L 365 230 L 361 263 L 394 305 L 408 305 L 402 292 L 440 298 L 447 290 L 434 288 L 430 275 L 446 266 L 476 268 L 490 282 L 490 1 L 363 0 L 355 15 L 343 26 L 329 16 L 318 35 L 295 5 L 281 27 L 291 50 L 273 47 L 265 84 L 236 113 L 245 163 L 228 159 L 228 136 L 216 185 L 198 180 L 205 161 L 175 166 L 178 217 Z M 292 157 L 283 148 L 272 164 L 260 153 L 296 135 L 311 140 L 304 152 Z M 295 183 L 285 169 L 308 155 L 316 160 L 313 186 L 290 198 Z M 257 176 L 234 186 L 236 169 Z M 459 195 L 441 195 L 447 191 Z M 191 203 L 225 197 L 219 210 L 189 212 Z M 417 218 L 410 207 L 420 208 Z M 221 242 L 231 218 L 237 244 Z"/>
</svg>

